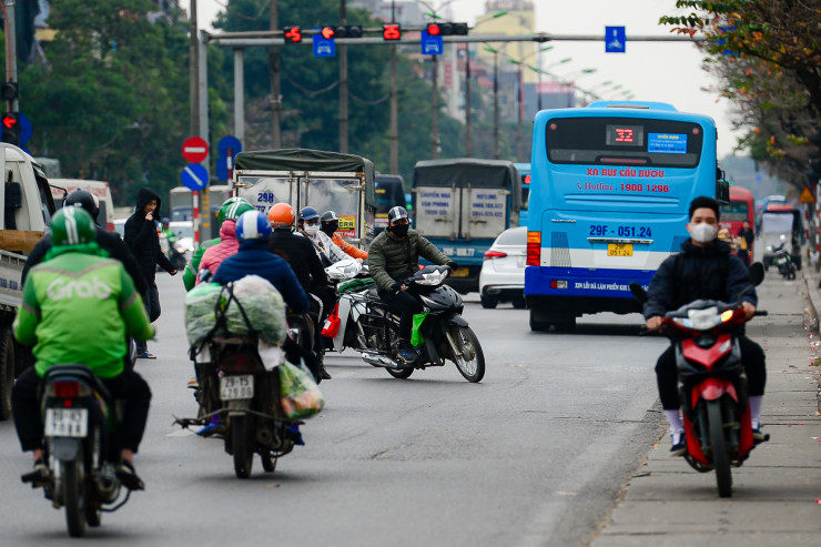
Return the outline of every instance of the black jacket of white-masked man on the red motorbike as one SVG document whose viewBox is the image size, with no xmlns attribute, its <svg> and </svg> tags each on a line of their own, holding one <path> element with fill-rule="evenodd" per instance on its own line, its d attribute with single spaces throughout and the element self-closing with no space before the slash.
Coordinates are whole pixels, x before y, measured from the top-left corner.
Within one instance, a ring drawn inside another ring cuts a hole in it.
<svg viewBox="0 0 821 547">
<path fill-rule="evenodd" d="M 716 240 L 700 247 L 687 240 L 681 252 L 661 263 L 648 291 L 645 318 L 663 316 L 699 298 L 737 302 L 749 287 L 747 266 L 738 256 L 730 254 L 730 245 Z M 750 290 L 741 298 L 753 306 L 758 304 L 756 291 Z"/>
</svg>

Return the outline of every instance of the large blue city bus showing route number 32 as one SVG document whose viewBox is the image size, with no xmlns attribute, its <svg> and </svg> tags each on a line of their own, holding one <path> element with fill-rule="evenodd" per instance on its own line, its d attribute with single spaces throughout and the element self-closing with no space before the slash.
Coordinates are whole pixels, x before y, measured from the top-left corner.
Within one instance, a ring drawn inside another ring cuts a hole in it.
<svg viewBox="0 0 821 547">
<path fill-rule="evenodd" d="M 687 240 L 690 201 L 729 201 L 716 123 L 658 102 L 545 110 L 534 123 L 525 296 L 530 328 L 569 332 L 582 314 L 640 311 Z"/>
</svg>

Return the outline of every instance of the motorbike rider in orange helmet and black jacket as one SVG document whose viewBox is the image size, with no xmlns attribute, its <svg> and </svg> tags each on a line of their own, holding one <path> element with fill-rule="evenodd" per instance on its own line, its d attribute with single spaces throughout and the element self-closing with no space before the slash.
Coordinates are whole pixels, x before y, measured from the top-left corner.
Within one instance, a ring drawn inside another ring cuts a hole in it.
<svg viewBox="0 0 821 547">
<path fill-rule="evenodd" d="M 314 323 L 314 352 L 317 357 L 321 357 L 324 340 L 320 325 L 336 303 L 336 293 L 330 286 L 331 283 L 322 267 L 316 247 L 307 237 L 292 232 L 295 220 L 294 209 L 287 203 L 276 203 L 271 207 L 268 221 L 273 233 L 268 239 L 268 249 L 287 261 L 300 285 L 315 304 L 311 306 L 308 315 Z M 331 379 L 331 374 L 322 364 L 318 368 L 322 379 Z"/>
</svg>

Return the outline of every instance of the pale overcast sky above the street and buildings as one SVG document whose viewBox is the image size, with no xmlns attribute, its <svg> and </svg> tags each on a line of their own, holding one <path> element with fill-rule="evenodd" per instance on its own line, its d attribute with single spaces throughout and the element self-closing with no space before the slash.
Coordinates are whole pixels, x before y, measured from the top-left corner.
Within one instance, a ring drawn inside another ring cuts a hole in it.
<svg viewBox="0 0 821 547">
<path fill-rule="evenodd" d="M 605 27 L 625 27 L 626 53 L 606 53 L 604 41 L 554 41 L 554 49 L 543 53 L 543 67 L 559 59 L 572 61 L 554 67 L 559 75 L 578 74 L 581 69 L 597 71 L 576 79 L 582 89 L 595 88 L 611 80 L 630 90 L 635 100 L 669 102 L 682 112 L 707 114 L 718 126 L 719 158 L 732 153 L 737 136 L 730 123 L 731 103 L 719 99 L 717 81 L 701 69 L 703 54 L 695 44 L 678 42 L 631 42 L 632 36 L 670 36 L 669 28 L 659 27 L 663 14 L 675 12 L 675 0 L 533 0 L 536 4 L 536 31 L 555 36 L 601 34 Z M 215 14 L 227 0 L 199 0 L 197 19 L 201 28 L 210 28 Z M 473 24 L 485 12 L 484 0 L 427 0 L 437 9 L 452 10 L 455 21 Z M 180 6 L 187 9 L 189 1 Z M 621 91 L 619 90 L 619 91 Z M 621 97 L 605 97 L 621 99 Z"/>
</svg>

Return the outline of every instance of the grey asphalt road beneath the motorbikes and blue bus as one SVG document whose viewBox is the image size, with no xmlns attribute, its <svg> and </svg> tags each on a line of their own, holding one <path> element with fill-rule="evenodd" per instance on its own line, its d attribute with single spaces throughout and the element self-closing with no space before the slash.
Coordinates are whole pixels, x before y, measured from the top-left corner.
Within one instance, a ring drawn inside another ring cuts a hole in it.
<svg viewBox="0 0 821 547">
<path fill-rule="evenodd" d="M 534 334 L 527 311 L 465 316 L 486 356 L 480 384 L 452 364 L 395 379 L 347 351 L 326 357 L 326 408 L 307 443 L 264 474 L 234 477 L 222 443 L 172 426 L 193 416 L 182 281 L 158 275 L 159 358 L 140 361 L 153 401 L 136 456 L 144 493 L 89 531 L 93 545 L 587 545 L 661 433 L 652 365 L 667 342 L 640 316 L 599 315 Z M 93 333 L 89 333 L 93 335 Z M 0 544 L 78 545 L 63 511 L 22 485 L 30 468 L 0 423 Z"/>
</svg>

